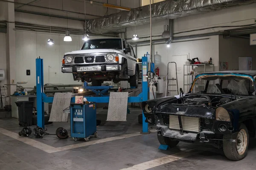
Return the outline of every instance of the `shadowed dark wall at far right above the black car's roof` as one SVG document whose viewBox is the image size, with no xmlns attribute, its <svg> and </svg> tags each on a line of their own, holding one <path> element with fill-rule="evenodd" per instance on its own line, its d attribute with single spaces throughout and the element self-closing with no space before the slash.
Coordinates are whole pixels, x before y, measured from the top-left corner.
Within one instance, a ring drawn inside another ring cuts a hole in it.
<svg viewBox="0 0 256 170">
<path fill-rule="evenodd" d="M 219 38 L 219 60 L 228 62 L 229 70 L 239 69 L 239 57 L 252 57 L 253 67 L 256 70 L 256 46 L 250 46 L 250 39 L 230 37 Z"/>
</svg>

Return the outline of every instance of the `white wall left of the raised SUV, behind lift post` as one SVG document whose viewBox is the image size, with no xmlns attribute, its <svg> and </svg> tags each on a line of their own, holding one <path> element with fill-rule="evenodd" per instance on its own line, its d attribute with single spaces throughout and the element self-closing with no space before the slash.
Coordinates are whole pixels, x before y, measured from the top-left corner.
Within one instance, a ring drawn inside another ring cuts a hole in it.
<svg viewBox="0 0 256 170">
<path fill-rule="evenodd" d="M 35 85 L 35 59 L 44 59 L 44 84 L 81 84 L 75 82 L 72 74 L 61 72 L 62 58 L 65 52 L 79 50 L 83 44 L 82 37 L 72 36 L 72 42 L 64 42 L 64 35 L 44 34 L 29 31 L 16 31 L 16 81 L 28 82 L 21 84 L 26 88 Z M 53 45 L 47 44 L 48 38 L 54 40 Z M 26 76 L 26 70 L 31 70 L 31 75 Z"/>
</svg>

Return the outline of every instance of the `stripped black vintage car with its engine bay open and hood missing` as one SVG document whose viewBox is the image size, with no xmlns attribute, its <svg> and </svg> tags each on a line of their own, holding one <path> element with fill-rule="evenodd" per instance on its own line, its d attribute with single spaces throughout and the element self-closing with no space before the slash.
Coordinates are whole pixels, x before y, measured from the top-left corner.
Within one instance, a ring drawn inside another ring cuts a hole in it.
<svg viewBox="0 0 256 170">
<path fill-rule="evenodd" d="M 212 144 L 223 147 L 227 158 L 241 160 L 247 153 L 248 137 L 256 133 L 255 77 L 256 71 L 199 74 L 186 95 L 143 102 L 146 122 L 157 125 L 161 144 Z M 192 93 L 199 79 L 206 80 L 205 89 Z M 210 81 L 217 82 L 212 87 L 215 93 L 207 92 Z M 227 89 L 222 88 L 224 81 L 229 83 Z"/>
</svg>

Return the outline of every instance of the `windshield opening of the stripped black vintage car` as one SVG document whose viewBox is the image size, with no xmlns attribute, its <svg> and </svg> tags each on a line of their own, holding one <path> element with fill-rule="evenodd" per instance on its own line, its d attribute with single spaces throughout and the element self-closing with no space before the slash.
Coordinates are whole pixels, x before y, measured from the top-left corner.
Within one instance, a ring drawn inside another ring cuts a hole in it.
<svg viewBox="0 0 256 170">
<path fill-rule="evenodd" d="M 195 80 L 195 86 L 192 93 L 196 92 L 236 95 L 255 94 L 254 82 L 251 79 L 236 76 L 208 77 L 197 79 Z"/>
</svg>

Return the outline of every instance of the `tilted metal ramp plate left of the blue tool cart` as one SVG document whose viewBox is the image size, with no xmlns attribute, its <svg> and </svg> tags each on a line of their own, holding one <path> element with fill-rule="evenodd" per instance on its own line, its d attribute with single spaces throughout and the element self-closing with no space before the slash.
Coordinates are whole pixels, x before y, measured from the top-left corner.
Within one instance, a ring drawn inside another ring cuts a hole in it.
<svg viewBox="0 0 256 170">
<path fill-rule="evenodd" d="M 49 122 L 67 122 L 68 112 L 64 109 L 70 107 L 72 93 L 55 93 Z"/>
</svg>

